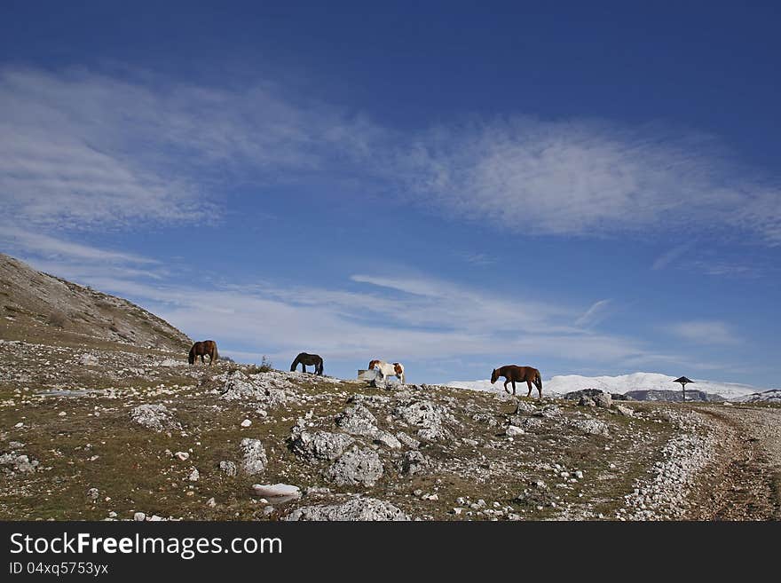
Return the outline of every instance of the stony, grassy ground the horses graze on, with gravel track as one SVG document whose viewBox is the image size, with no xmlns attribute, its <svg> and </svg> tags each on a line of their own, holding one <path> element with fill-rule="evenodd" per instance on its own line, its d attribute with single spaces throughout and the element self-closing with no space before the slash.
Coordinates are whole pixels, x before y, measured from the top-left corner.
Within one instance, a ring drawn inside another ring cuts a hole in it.
<svg viewBox="0 0 781 583">
<path fill-rule="evenodd" d="M 0 519 L 778 517 L 773 406 L 376 388 L 122 344 L 0 352 Z M 277 484 L 294 487 L 256 487 Z"/>
</svg>

